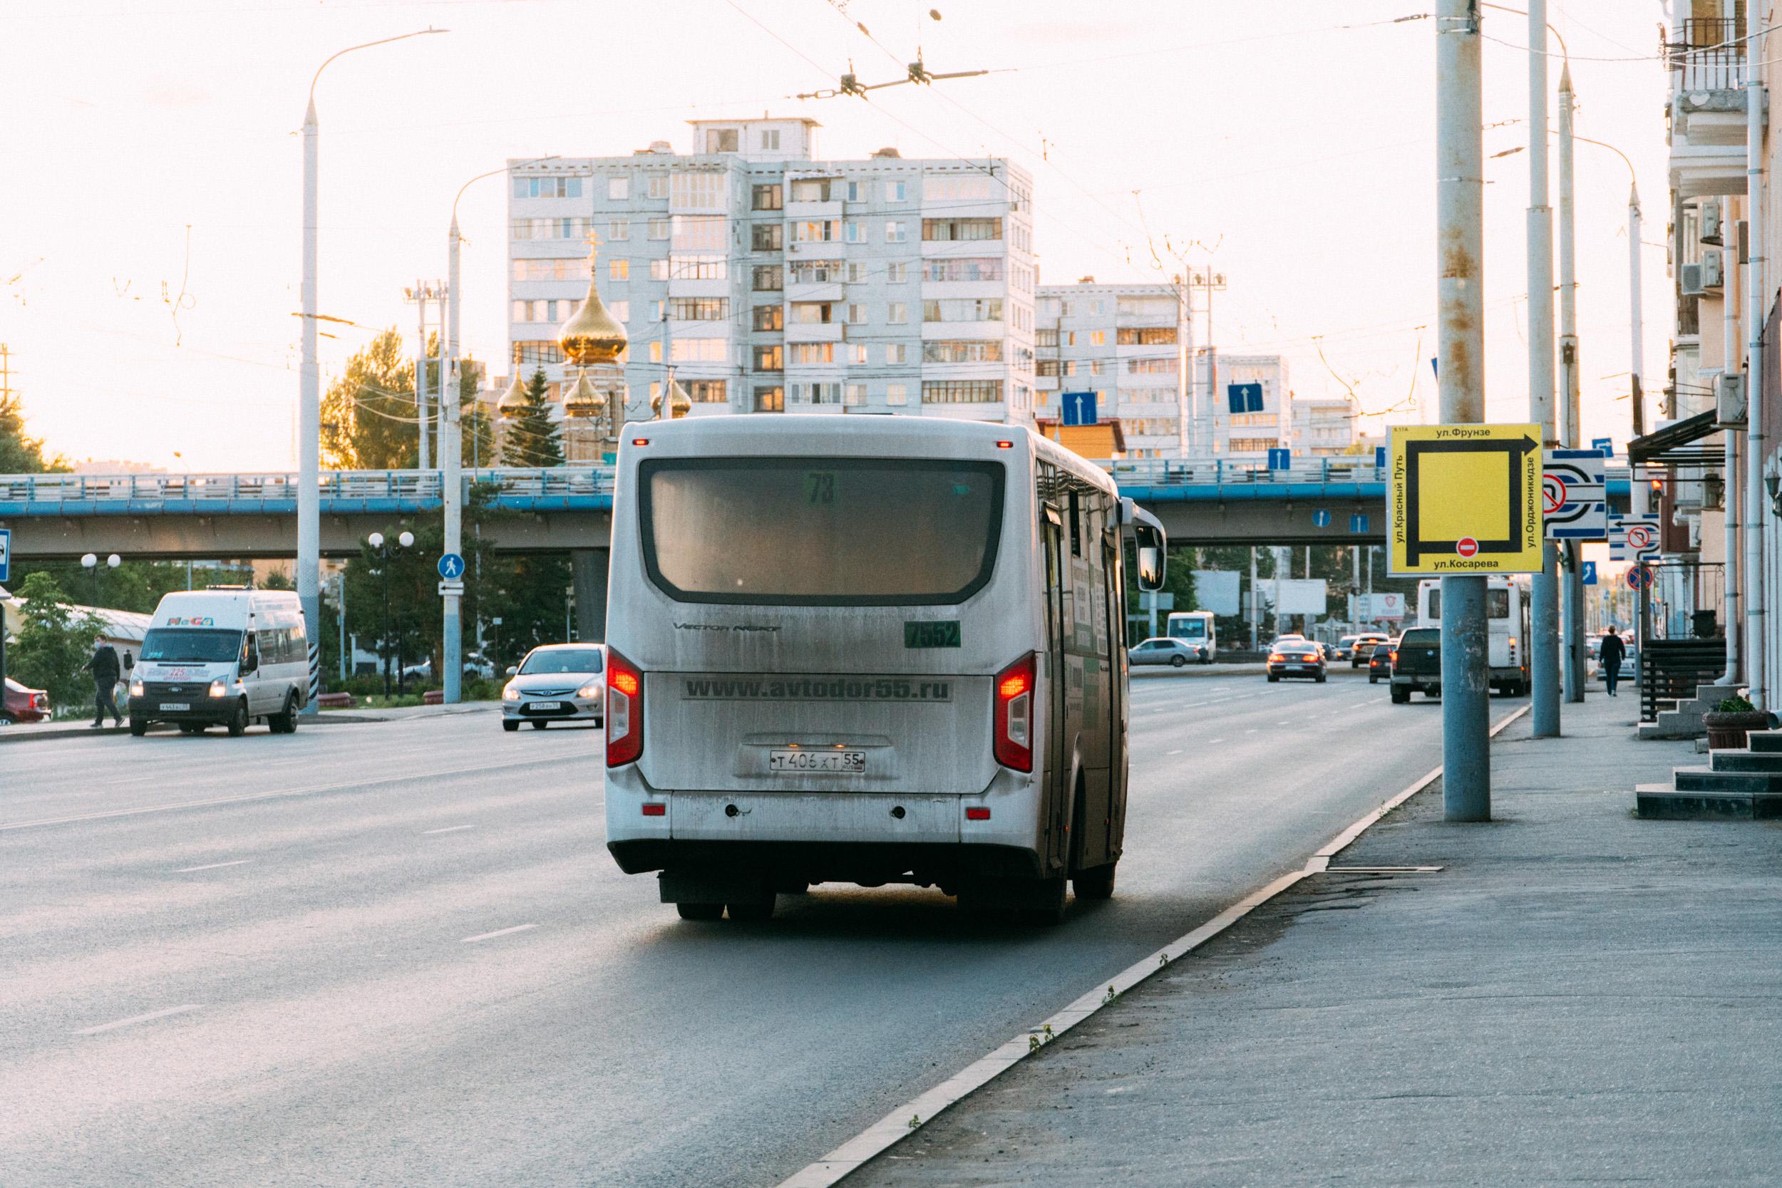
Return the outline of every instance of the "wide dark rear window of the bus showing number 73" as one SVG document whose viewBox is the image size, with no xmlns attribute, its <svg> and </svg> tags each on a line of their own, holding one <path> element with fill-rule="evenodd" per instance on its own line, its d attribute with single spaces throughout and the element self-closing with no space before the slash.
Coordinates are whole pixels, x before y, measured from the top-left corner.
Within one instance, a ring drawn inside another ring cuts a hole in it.
<svg viewBox="0 0 1782 1188">
<path fill-rule="evenodd" d="M 964 602 L 996 566 L 1003 467 L 663 458 L 638 467 L 643 565 L 681 602 Z"/>
</svg>

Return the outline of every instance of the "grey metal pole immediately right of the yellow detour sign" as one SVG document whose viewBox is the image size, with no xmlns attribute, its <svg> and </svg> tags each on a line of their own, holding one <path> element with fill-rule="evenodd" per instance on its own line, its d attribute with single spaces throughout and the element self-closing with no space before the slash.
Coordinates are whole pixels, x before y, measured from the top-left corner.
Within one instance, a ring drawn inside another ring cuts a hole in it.
<svg viewBox="0 0 1782 1188">
<path fill-rule="evenodd" d="M 1541 447 L 1559 443 L 1554 426 L 1554 212 L 1547 205 L 1547 0 L 1529 0 L 1529 420 Z M 1541 572 L 1531 579 L 1531 732 L 1559 736 L 1559 566 L 1541 541 Z"/>
</svg>

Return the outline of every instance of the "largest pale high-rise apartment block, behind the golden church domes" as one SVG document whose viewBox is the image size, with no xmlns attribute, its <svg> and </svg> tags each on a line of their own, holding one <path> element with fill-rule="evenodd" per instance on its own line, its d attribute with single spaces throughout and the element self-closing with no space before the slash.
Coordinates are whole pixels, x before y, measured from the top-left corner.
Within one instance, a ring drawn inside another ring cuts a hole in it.
<svg viewBox="0 0 1782 1188">
<path fill-rule="evenodd" d="M 625 408 L 666 367 L 709 411 L 1034 417 L 1034 185 L 1003 160 L 818 160 L 814 119 L 697 119 L 693 151 L 515 164 L 510 335 L 563 383 L 588 283 L 625 324 Z M 511 358 L 511 354 L 510 354 Z"/>
</svg>

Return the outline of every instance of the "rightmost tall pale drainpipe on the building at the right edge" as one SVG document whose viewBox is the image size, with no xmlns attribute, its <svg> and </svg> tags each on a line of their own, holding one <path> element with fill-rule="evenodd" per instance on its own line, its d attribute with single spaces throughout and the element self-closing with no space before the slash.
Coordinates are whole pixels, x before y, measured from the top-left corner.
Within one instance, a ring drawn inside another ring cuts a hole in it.
<svg viewBox="0 0 1782 1188">
<path fill-rule="evenodd" d="M 1764 84 L 1759 71 L 1764 5 L 1745 5 L 1745 217 L 1750 223 L 1745 278 L 1745 677 L 1757 709 L 1764 688 Z M 1732 623 L 1727 623 L 1732 632 Z"/>
</svg>

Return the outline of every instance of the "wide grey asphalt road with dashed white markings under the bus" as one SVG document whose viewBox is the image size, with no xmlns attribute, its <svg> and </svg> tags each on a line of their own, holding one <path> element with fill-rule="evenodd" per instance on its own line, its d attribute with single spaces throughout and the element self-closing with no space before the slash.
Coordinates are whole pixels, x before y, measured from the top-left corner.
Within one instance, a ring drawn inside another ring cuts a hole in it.
<svg viewBox="0 0 1782 1188">
<path fill-rule="evenodd" d="M 681 923 L 595 730 L 0 743 L 0 1184 L 773 1184 L 1440 762 L 1383 686 L 1144 677 L 1116 898 Z"/>
</svg>

